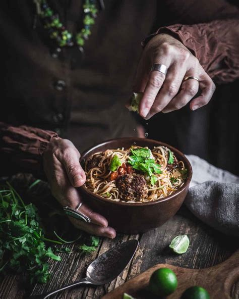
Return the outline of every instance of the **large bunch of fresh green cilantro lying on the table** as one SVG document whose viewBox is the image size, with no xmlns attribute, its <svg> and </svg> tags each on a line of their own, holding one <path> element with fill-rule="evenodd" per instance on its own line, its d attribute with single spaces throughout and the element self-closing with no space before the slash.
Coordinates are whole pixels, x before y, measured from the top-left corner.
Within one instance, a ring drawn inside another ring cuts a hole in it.
<svg viewBox="0 0 239 299">
<path fill-rule="evenodd" d="M 46 248 L 36 207 L 25 205 L 7 183 L 0 189 L 0 272 L 26 272 L 30 282 L 49 279 L 48 258 L 60 261 L 51 247 Z M 54 241 L 57 243 L 57 241 Z"/>
</svg>

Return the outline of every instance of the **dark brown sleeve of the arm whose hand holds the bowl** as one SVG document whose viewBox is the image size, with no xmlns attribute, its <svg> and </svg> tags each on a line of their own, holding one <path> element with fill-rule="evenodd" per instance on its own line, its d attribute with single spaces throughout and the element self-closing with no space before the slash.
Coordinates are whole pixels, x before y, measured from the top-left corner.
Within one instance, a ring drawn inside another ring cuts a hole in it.
<svg viewBox="0 0 239 299">
<path fill-rule="evenodd" d="M 0 174 L 29 172 L 44 177 L 42 153 L 57 134 L 38 128 L 14 127 L 0 122 Z"/>
</svg>

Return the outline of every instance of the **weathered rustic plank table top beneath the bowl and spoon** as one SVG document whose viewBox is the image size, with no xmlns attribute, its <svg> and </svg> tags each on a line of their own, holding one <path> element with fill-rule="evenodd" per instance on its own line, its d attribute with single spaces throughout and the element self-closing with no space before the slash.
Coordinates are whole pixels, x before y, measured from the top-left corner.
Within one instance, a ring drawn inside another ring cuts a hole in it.
<svg viewBox="0 0 239 299">
<path fill-rule="evenodd" d="M 171 239 L 180 234 L 187 234 L 191 244 L 184 255 L 174 255 L 168 250 Z M 98 255 L 128 239 L 137 238 L 140 242 L 137 253 L 125 271 L 111 283 L 98 287 L 80 287 L 59 293 L 52 298 L 90 299 L 101 298 L 117 286 L 142 273 L 153 265 L 167 263 L 189 268 L 205 268 L 226 260 L 237 248 L 238 239 L 223 235 L 194 217 L 183 206 L 180 211 L 163 226 L 138 235 L 117 234 L 116 238 L 102 238 L 96 252 L 80 255 L 74 251 L 68 255 L 62 253 L 61 262 L 50 262 L 51 281 L 46 285 L 36 284 L 31 294 L 50 291 L 64 284 L 69 284 L 84 277 L 87 266 Z M 71 247 L 74 247 L 72 245 Z M 8 276 L 0 285 L 1 299 L 20 299 L 26 296 L 21 283 L 21 276 Z M 231 290 L 233 299 L 239 298 L 239 281 Z M 223 298 L 218 298 L 223 299 Z"/>
</svg>

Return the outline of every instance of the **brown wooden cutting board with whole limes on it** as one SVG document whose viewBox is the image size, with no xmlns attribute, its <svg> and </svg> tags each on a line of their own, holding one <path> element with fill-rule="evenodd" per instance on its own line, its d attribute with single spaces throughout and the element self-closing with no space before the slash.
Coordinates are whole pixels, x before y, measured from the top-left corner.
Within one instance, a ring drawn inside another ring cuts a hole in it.
<svg viewBox="0 0 239 299">
<path fill-rule="evenodd" d="M 153 299 L 151 293 L 145 291 L 145 287 L 149 283 L 151 274 L 159 268 L 170 268 L 177 276 L 177 289 L 167 296 L 167 299 L 180 299 L 182 293 L 193 285 L 207 289 L 210 299 L 230 299 L 231 287 L 239 280 L 239 251 L 223 263 L 205 269 L 187 269 L 167 264 L 155 265 L 104 295 L 102 299 L 122 299 L 125 292 L 137 299 Z"/>
</svg>

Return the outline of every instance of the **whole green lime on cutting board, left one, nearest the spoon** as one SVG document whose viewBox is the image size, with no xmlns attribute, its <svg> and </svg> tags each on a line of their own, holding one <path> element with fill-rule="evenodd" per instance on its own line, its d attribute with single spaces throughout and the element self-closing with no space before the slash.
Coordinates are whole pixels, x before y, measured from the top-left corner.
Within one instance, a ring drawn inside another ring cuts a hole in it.
<svg viewBox="0 0 239 299">
<path fill-rule="evenodd" d="M 156 270 L 149 281 L 149 290 L 156 296 L 167 296 L 177 288 L 177 277 L 175 273 L 168 268 Z"/>
</svg>

